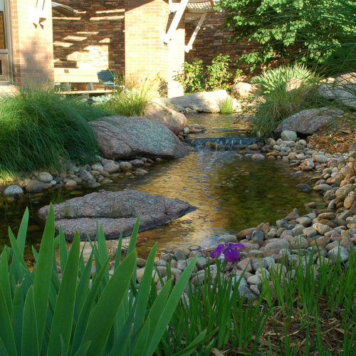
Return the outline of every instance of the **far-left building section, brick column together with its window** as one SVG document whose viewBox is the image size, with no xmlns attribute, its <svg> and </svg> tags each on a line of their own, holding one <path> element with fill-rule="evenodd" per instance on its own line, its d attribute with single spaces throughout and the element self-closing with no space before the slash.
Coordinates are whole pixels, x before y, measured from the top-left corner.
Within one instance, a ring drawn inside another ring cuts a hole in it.
<svg viewBox="0 0 356 356">
<path fill-rule="evenodd" d="M 53 83 L 51 1 L 0 0 L 0 91 Z"/>
</svg>

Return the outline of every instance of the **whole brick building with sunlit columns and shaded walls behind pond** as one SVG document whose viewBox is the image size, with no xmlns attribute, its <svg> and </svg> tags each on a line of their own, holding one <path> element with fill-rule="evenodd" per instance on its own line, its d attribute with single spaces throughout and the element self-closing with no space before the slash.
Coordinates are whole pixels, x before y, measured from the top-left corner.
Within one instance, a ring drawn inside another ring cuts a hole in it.
<svg viewBox="0 0 356 356">
<path fill-rule="evenodd" d="M 234 62 L 246 49 L 227 41 L 224 16 L 211 7 L 217 1 L 61 0 L 70 12 L 49 0 L 0 0 L 0 90 L 11 82 L 51 83 L 54 66 L 159 76 L 169 96 L 180 95 L 172 77 L 184 60 L 207 64 L 229 53 Z"/>
</svg>

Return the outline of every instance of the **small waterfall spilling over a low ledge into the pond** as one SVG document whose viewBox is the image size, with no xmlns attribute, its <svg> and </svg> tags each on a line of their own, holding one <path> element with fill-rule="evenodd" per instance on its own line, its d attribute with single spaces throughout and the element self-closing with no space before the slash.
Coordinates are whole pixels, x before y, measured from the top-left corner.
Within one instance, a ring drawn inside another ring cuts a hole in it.
<svg viewBox="0 0 356 356">
<path fill-rule="evenodd" d="M 233 136 L 233 137 L 199 137 L 190 141 L 193 147 L 228 148 L 232 150 L 241 145 L 252 145 L 257 142 L 258 137 Z"/>
</svg>

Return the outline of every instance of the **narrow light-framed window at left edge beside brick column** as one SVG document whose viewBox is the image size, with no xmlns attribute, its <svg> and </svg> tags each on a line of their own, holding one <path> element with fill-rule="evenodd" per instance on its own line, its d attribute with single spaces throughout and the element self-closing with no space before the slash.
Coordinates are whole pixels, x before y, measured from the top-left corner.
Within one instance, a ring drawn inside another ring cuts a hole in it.
<svg viewBox="0 0 356 356">
<path fill-rule="evenodd" d="M 9 84 L 11 79 L 11 25 L 9 6 L 9 0 L 0 0 L 0 84 Z"/>
</svg>

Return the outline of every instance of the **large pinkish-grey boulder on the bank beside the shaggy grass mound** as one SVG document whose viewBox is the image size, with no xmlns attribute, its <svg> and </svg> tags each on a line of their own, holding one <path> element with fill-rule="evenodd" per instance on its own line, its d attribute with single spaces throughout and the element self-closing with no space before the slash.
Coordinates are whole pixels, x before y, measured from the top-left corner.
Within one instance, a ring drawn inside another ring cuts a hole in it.
<svg viewBox="0 0 356 356">
<path fill-rule="evenodd" d="M 188 153 L 187 147 L 171 130 L 146 117 L 101 117 L 90 125 L 100 151 L 108 159 L 137 156 L 172 159 Z"/>
</svg>

